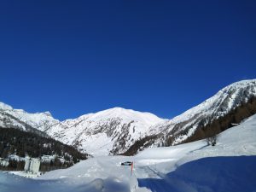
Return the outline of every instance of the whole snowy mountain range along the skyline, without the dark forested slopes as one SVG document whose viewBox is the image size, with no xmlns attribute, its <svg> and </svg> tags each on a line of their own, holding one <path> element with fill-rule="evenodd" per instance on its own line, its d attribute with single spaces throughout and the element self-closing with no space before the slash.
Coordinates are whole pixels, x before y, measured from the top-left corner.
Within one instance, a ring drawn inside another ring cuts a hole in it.
<svg viewBox="0 0 256 192">
<path fill-rule="evenodd" d="M 145 146 L 181 143 L 201 126 L 225 117 L 245 103 L 249 103 L 249 108 L 242 118 L 248 117 L 256 113 L 255 96 L 256 79 L 243 80 L 219 90 L 205 102 L 173 119 L 160 119 L 152 113 L 131 109 L 111 108 L 59 121 L 48 112 L 26 113 L 0 102 L 0 126 L 42 131 L 89 154 L 122 154 L 128 149 L 132 149 L 131 154 L 134 154 Z"/>
</svg>

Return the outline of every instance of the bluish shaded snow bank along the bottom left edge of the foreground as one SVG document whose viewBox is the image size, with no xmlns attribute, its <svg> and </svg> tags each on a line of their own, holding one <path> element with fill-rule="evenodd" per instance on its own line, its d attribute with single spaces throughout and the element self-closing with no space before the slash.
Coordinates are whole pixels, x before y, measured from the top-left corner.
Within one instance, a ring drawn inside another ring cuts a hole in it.
<svg viewBox="0 0 256 192">
<path fill-rule="evenodd" d="M 97 178 L 90 183 L 81 179 L 34 180 L 0 172 L 1 192 L 130 192 L 127 183 L 119 182 L 118 178 Z"/>
</svg>

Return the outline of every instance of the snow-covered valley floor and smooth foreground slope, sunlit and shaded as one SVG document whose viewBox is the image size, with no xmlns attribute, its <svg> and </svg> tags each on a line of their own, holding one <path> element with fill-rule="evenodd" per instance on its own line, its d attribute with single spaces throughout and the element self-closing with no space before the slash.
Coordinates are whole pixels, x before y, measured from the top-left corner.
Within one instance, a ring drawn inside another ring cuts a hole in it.
<svg viewBox="0 0 256 192">
<path fill-rule="evenodd" d="M 102 156 L 27 179 L 0 172 L 0 191 L 256 191 L 256 115 L 204 141 L 148 148 L 133 157 Z M 131 166 L 120 166 L 130 160 Z"/>
</svg>

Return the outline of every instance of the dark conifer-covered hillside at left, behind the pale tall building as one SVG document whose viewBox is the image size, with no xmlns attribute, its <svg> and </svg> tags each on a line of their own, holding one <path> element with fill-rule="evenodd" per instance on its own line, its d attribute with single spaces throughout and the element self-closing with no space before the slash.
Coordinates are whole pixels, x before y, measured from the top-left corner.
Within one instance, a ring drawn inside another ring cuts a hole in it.
<svg viewBox="0 0 256 192">
<path fill-rule="evenodd" d="M 9 159 L 9 167 L 2 167 L 5 170 L 22 170 L 22 157 L 28 154 L 30 157 L 41 158 L 43 155 L 49 155 L 52 159 L 42 160 L 41 171 L 49 171 L 56 168 L 65 168 L 73 166 L 79 160 L 86 160 L 88 155 L 80 153 L 72 146 L 55 141 L 49 137 L 41 137 L 38 134 L 20 131 L 15 128 L 0 127 L 0 157 Z M 10 158 L 10 154 L 16 154 L 21 157 Z M 54 158 L 53 158 L 54 157 Z M 21 166 L 20 166 L 21 164 Z"/>
</svg>

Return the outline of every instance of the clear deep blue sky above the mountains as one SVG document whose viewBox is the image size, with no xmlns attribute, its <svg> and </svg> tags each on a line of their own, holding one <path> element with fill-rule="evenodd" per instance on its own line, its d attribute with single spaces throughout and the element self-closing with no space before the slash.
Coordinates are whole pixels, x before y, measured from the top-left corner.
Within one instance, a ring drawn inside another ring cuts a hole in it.
<svg viewBox="0 0 256 192">
<path fill-rule="evenodd" d="M 256 1 L 0 2 L 0 101 L 171 118 L 256 78 Z"/>
</svg>

